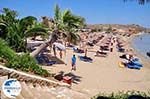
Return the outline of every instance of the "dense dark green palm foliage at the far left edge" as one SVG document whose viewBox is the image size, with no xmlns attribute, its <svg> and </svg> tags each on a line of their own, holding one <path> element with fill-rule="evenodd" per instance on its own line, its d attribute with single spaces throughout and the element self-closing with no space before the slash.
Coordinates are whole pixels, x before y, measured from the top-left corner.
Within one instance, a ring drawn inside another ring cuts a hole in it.
<svg viewBox="0 0 150 99">
<path fill-rule="evenodd" d="M 26 51 L 26 38 L 35 35 L 45 35 L 47 31 L 37 23 L 37 19 L 28 16 L 22 19 L 16 19 L 17 12 L 8 8 L 2 10 L 0 17 L 0 28 L 3 30 L 1 37 L 8 44 L 18 51 Z"/>
</svg>

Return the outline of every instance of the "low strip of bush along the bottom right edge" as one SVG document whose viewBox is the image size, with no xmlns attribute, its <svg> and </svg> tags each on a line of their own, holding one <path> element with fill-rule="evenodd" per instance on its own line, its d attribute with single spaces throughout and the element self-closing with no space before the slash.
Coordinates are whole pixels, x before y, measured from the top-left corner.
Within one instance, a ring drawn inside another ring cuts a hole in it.
<svg viewBox="0 0 150 99">
<path fill-rule="evenodd" d="M 91 99 L 149 99 L 150 93 L 147 94 L 140 91 L 121 91 L 117 93 L 105 94 L 99 93 Z"/>
</svg>

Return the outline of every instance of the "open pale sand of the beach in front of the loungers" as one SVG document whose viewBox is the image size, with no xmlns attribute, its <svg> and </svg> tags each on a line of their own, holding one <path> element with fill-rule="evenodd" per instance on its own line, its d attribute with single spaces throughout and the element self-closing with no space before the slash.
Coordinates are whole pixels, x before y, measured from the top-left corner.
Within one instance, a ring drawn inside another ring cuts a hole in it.
<svg viewBox="0 0 150 99">
<path fill-rule="evenodd" d="M 128 47 L 131 47 L 130 41 L 131 39 L 128 39 Z M 71 71 L 71 57 L 73 54 L 76 57 L 81 54 L 74 53 L 73 50 L 69 49 L 67 49 L 67 65 L 56 64 L 49 67 L 43 66 L 43 68 L 53 73 L 60 71 L 65 74 L 71 73 L 75 79 L 71 88 L 89 96 L 99 92 L 111 93 L 128 90 L 147 92 L 150 90 L 150 62 L 148 60 L 145 60 L 135 51 L 144 67 L 141 70 L 120 68 L 118 62 L 122 61 L 119 58 L 122 53 L 114 50 L 109 52 L 107 57 L 95 57 L 95 51 L 98 49 L 99 47 L 95 46 L 88 50 L 88 57 L 93 59 L 93 63 L 86 63 L 77 58 L 76 71 Z"/>
</svg>

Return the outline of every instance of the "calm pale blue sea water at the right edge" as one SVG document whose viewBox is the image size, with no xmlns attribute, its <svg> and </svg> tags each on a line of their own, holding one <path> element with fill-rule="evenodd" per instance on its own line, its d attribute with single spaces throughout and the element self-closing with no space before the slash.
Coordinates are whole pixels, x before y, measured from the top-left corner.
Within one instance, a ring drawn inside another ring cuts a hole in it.
<svg viewBox="0 0 150 99">
<path fill-rule="evenodd" d="M 145 58 L 150 59 L 150 57 L 146 55 L 147 52 L 150 52 L 150 34 L 145 33 L 135 37 L 132 41 L 132 46 Z"/>
</svg>

